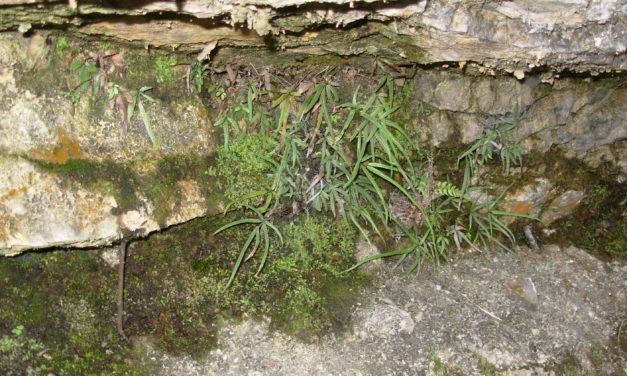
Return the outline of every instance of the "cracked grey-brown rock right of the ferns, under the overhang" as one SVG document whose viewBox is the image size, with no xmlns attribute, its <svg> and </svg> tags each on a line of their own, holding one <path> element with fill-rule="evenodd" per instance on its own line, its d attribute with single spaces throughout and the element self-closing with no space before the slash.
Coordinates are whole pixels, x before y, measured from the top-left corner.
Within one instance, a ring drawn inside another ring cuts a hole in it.
<svg viewBox="0 0 627 376">
<path fill-rule="evenodd" d="M 455 70 L 417 75 L 414 100 L 435 111 L 422 118 L 419 127 L 431 129 L 436 144 L 456 130 L 470 143 L 481 135 L 480 124 L 522 112 L 525 118 L 514 136 L 528 152 L 558 145 L 568 156 L 585 158 L 595 148 L 627 138 L 627 89 L 618 84 L 620 79 L 557 79 L 549 85 L 538 76 L 518 81 L 463 76 Z M 617 154 L 613 162 L 624 164 L 625 159 Z"/>
</svg>

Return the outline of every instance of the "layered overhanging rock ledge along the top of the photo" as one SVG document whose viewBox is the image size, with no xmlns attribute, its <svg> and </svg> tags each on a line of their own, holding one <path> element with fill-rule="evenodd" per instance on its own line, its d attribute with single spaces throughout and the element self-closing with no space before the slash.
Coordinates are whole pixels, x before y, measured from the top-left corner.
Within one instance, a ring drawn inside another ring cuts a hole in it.
<svg viewBox="0 0 627 376">
<path fill-rule="evenodd" d="M 0 29 L 27 32 L 64 25 L 153 46 L 199 50 L 217 41 L 219 47 L 258 48 L 268 40 L 259 36 L 266 36 L 286 53 L 388 56 L 418 63 L 474 61 L 487 69 L 506 69 L 517 78 L 539 66 L 578 72 L 627 68 L 627 6 L 620 0 L 3 4 Z M 111 19 L 112 14 L 125 18 Z M 170 16 L 150 18 L 163 14 Z M 332 25 L 346 32 L 329 28 Z"/>
</svg>

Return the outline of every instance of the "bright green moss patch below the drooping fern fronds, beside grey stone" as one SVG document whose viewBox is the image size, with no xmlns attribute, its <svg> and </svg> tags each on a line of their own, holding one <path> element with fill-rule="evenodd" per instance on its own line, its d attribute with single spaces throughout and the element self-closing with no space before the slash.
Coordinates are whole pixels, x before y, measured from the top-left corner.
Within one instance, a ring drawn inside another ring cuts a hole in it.
<svg viewBox="0 0 627 376">
<path fill-rule="evenodd" d="M 226 221 L 226 220 L 225 220 Z M 279 224 L 285 243 L 272 242 L 268 261 L 256 275 L 260 257 L 240 268 L 229 289 L 223 289 L 245 228 L 229 232 L 226 253 L 213 254 L 195 263 L 199 291 L 207 304 L 232 314 L 267 315 L 272 327 L 311 340 L 324 331 L 341 329 L 357 296 L 356 286 L 365 283 L 359 273 L 342 274 L 352 265 L 355 233 L 323 216 L 301 215 Z"/>
</svg>

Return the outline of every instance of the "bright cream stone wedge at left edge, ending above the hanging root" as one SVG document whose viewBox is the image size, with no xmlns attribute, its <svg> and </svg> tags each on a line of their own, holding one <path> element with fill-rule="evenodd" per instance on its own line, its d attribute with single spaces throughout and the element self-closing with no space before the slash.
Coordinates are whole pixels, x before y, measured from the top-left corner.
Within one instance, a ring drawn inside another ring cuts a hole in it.
<svg viewBox="0 0 627 376">
<path fill-rule="evenodd" d="M 63 181 L 21 158 L 1 157 L 0 171 L 0 254 L 95 246 L 120 237 L 111 195 Z"/>
</svg>

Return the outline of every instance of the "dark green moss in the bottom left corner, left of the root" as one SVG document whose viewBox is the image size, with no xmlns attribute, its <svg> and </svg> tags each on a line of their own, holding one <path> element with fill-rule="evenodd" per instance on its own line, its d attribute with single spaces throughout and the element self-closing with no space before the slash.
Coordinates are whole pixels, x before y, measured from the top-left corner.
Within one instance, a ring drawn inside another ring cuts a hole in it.
<svg viewBox="0 0 627 376">
<path fill-rule="evenodd" d="M 95 252 L 0 259 L 0 272 L 0 373 L 149 373 L 115 332 L 116 274 Z M 10 333 L 17 327 L 19 335 Z"/>
</svg>

